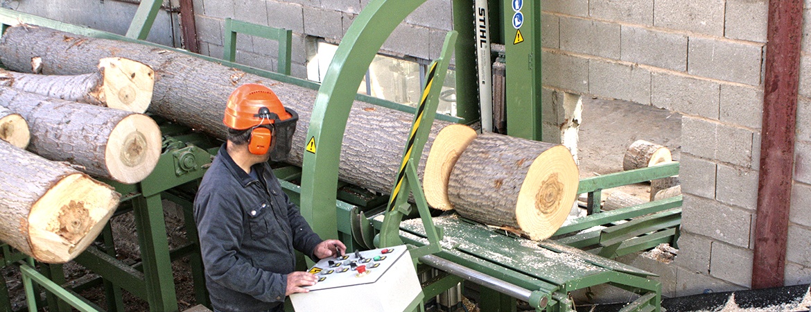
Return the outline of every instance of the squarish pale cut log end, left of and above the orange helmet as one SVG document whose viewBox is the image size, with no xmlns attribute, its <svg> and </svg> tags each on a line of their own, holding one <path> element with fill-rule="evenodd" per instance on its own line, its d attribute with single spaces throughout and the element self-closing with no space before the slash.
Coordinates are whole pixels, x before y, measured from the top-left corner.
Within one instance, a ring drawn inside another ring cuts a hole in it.
<svg viewBox="0 0 811 312">
<path fill-rule="evenodd" d="M 144 113 L 152 101 L 155 71 L 141 62 L 127 58 L 102 58 L 99 69 L 104 83 L 97 96 L 107 107 Z"/>
</svg>

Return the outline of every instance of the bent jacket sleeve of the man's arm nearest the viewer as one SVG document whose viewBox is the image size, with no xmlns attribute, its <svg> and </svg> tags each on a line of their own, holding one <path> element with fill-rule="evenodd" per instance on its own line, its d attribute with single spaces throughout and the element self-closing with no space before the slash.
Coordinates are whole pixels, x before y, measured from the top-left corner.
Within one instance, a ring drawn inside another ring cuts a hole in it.
<svg viewBox="0 0 811 312">
<path fill-rule="evenodd" d="M 216 193 L 195 199 L 200 252 L 208 276 L 260 301 L 284 301 L 287 275 L 253 267 L 237 256 L 242 241 L 242 212 L 238 207 L 233 199 Z"/>
</svg>

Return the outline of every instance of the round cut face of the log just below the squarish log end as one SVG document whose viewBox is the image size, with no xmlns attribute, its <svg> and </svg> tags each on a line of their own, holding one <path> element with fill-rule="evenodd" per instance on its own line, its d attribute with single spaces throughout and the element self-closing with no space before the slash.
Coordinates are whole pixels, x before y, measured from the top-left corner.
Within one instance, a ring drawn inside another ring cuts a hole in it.
<svg viewBox="0 0 811 312">
<path fill-rule="evenodd" d="M 161 129 L 152 118 L 135 113 L 123 118 L 109 135 L 105 160 L 111 178 L 141 182 L 161 156 Z"/>
</svg>

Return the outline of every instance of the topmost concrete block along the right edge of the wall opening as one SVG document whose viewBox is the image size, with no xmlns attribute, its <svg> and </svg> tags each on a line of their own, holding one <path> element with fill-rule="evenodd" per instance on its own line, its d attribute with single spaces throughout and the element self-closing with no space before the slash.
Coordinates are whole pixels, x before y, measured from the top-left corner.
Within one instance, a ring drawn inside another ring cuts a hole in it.
<svg viewBox="0 0 811 312">
<path fill-rule="evenodd" d="M 718 123 L 689 116 L 681 117 L 681 152 L 695 156 L 715 159 L 717 148 Z M 684 158 L 684 156 L 682 156 Z M 714 172 L 713 172 L 714 173 Z M 689 185 L 689 180 L 684 179 Z M 690 186 L 689 186 L 690 187 Z M 714 194 L 714 193 L 713 193 Z"/>
</svg>

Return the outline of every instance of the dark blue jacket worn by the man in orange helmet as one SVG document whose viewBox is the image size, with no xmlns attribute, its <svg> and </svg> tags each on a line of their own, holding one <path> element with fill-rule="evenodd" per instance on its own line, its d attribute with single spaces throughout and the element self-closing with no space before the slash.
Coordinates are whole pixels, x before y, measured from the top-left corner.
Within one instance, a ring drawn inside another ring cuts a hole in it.
<svg viewBox="0 0 811 312">
<path fill-rule="evenodd" d="M 259 180 L 239 168 L 223 144 L 195 198 L 206 286 L 221 311 L 281 311 L 294 249 L 313 258 L 321 242 L 270 166 L 251 170 Z"/>
</svg>

